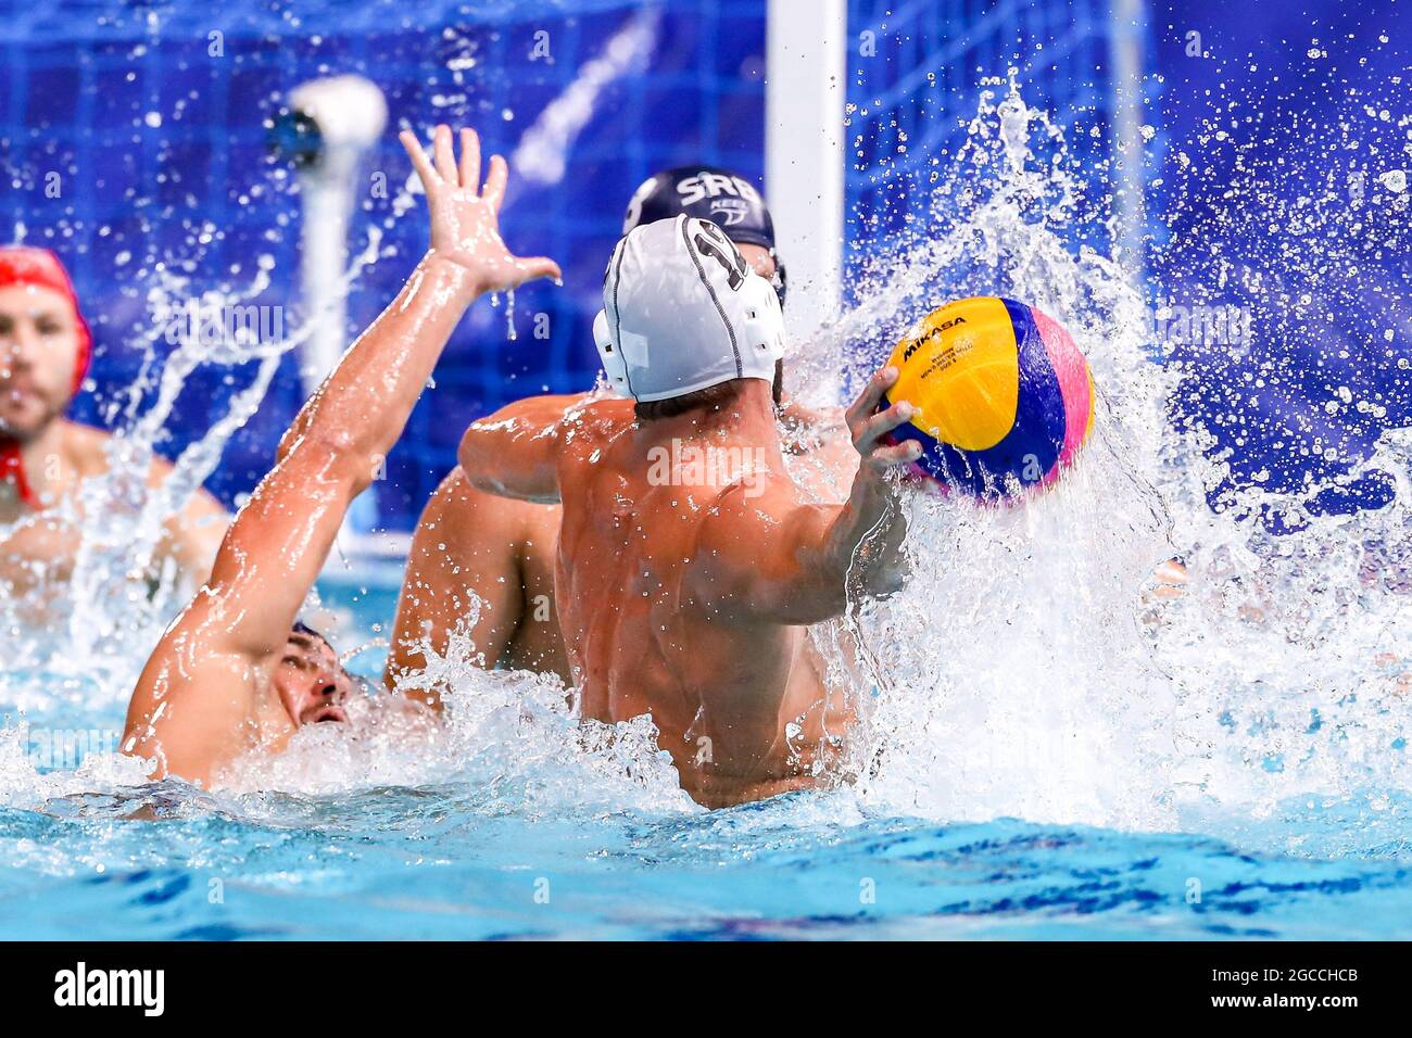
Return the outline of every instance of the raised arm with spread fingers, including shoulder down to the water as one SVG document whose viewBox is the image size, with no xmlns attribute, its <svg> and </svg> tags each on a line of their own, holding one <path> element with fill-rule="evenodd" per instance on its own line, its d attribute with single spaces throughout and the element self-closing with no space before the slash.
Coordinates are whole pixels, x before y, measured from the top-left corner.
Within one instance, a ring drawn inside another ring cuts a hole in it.
<svg viewBox="0 0 1412 1038">
<path fill-rule="evenodd" d="M 205 778 L 213 747 L 249 715 L 261 668 L 289 628 L 352 500 L 381 467 L 462 314 L 487 291 L 558 277 L 548 258 L 521 260 L 500 239 L 505 162 L 436 127 L 435 165 L 417 138 L 402 144 L 426 188 L 431 249 L 393 304 L 349 347 L 280 445 L 278 460 L 227 532 L 210 580 L 167 630 L 128 709 L 124 750 L 157 756 L 160 772 Z M 175 709 L 176 696 L 199 709 Z M 174 709 L 164 709 L 174 708 Z"/>
</svg>

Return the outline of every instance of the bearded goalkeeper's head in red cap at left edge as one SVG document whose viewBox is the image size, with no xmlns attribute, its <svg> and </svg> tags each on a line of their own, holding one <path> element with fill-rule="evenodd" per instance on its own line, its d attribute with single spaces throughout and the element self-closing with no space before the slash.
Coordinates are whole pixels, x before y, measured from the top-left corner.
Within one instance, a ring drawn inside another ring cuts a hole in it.
<svg viewBox="0 0 1412 1038">
<path fill-rule="evenodd" d="M 83 384 L 90 347 L 58 257 L 0 247 L 0 436 L 30 441 L 59 418 Z"/>
</svg>

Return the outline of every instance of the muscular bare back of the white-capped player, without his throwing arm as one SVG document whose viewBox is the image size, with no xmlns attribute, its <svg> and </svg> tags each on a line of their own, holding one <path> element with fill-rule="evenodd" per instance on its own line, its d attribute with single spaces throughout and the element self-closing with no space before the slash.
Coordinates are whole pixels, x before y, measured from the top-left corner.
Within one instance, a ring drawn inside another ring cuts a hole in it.
<svg viewBox="0 0 1412 1038">
<path fill-rule="evenodd" d="M 784 475 L 768 408 L 738 418 L 645 425 L 631 401 L 600 400 L 566 419 L 558 458 L 556 587 L 583 716 L 651 715 L 682 787 L 707 806 L 827 781 L 850 722 L 842 691 L 820 678 L 803 621 L 722 607 L 734 578 L 714 565 L 707 527 L 734 528 L 731 515 L 757 501 L 770 514 L 810 508 Z M 754 467 L 674 475 L 661 465 L 664 443 Z M 837 507 L 818 508 L 822 517 Z"/>
</svg>

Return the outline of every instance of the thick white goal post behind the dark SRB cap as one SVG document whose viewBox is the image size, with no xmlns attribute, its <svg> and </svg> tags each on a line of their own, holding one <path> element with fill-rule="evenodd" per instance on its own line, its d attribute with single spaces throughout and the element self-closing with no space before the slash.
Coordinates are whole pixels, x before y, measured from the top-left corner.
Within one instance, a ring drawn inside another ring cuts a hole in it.
<svg viewBox="0 0 1412 1038">
<path fill-rule="evenodd" d="M 846 0 L 770 0 L 765 199 L 789 275 L 792 342 L 839 309 L 847 31 Z"/>
</svg>

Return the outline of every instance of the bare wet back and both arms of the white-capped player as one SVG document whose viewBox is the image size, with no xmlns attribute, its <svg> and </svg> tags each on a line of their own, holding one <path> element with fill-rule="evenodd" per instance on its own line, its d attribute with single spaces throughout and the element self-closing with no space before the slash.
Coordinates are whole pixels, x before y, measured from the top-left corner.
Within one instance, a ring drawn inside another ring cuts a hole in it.
<svg viewBox="0 0 1412 1038">
<path fill-rule="evenodd" d="M 827 781 L 849 723 L 809 658 L 805 626 L 840 616 L 844 580 L 901 583 L 904 525 L 890 467 L 915 445 L 878 438 L 907 414 L 874 415 L 878 376 L 850 408 L 861 460 L 849 501 L 812 504 L 785 475 L 770 386 L 740 380 L 720 412 L 638 422 L 627 400 L 513 404 L 476 422 L 460 463 L 476 486 L 563 503 L 556 600 L 586 717 L 651 713 L 682 788 L 724 806 Z M 768 476 L 659 486 L 650 452 L 672 441 L 761 453 Z M 860 544 L 864 534 L 873 539 Z M 857 549 L 857 555 L 854 555 Z"/>
</svg>

